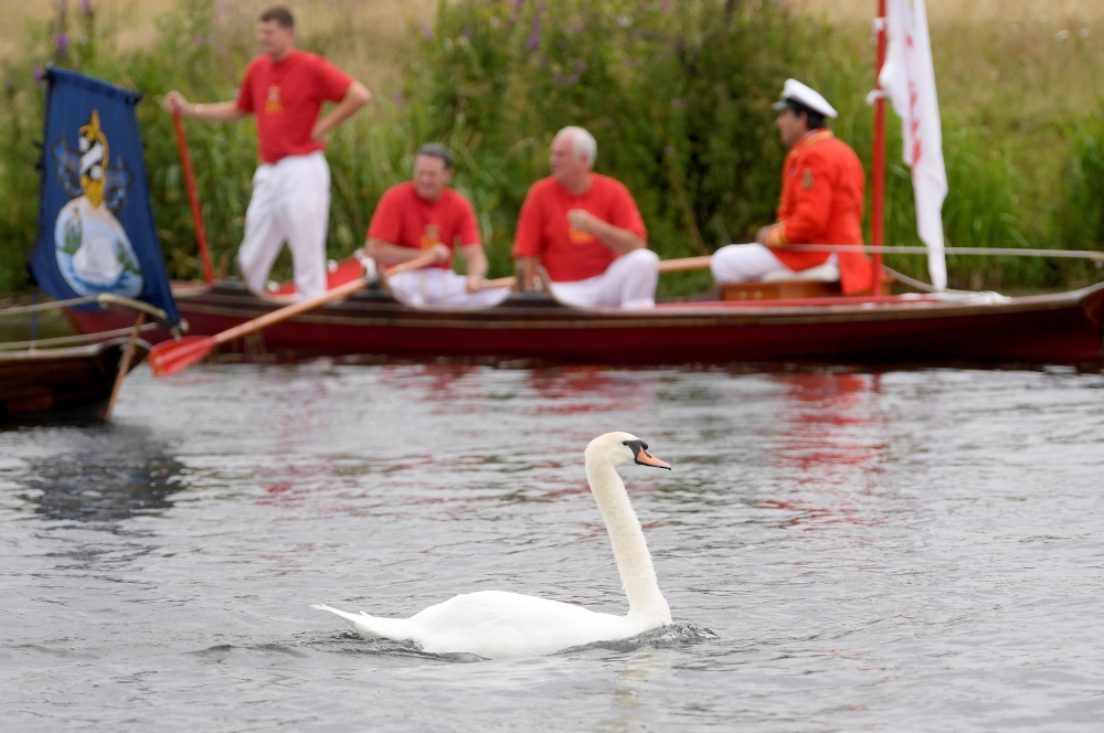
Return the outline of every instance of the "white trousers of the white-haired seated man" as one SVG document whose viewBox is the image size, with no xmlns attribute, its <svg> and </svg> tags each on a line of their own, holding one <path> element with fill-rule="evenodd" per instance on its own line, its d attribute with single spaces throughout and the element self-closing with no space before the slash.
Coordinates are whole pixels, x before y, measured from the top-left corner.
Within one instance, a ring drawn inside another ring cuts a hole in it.
<svg viewBox="0 0 1104 733">
<path fill-rule="evenodd" d="M 659 281 L 659 255 L 634 249 L 585 280 L 552 283 L 556 300 L 580 308 L 652 308 Z"/>
</svg>

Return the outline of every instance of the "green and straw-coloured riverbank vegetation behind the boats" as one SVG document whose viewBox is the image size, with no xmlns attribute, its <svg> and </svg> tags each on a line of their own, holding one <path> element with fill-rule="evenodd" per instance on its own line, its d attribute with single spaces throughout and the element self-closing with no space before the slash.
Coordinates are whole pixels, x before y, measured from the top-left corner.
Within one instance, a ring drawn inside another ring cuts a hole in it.
<svg viewBox="0 0 1104 733">
<path fill-rule="evenodd" d="M 232 98 L 255 53 L 261 2 L 71 1 L 0 40 L 0 291 L 22 287 L 34 235 L 45 63 L 142 92 L 155 215 L 170 273 L 200 273 L 171 119 L 157 105 Z M 374 108 L 330 142 L 332 257 L 360 246 L 375 202 L 408 177 L 413 151 L 442 140 L 476 205 L 492 275 L 510 273 L 513 224 L 567 124 L 598 140 L 597 170 L 625 181 L 662 257 L 746 241 L 772 219 L 784 150 L 769 104 L 787 76 L 840 111 L 837 135 L 868 164 L 870 19 L 827 0 L 397 0 L 296 3 L 300 45 L 364 81 Z M 863 8 L 874 3 L 861 3 Z M 1042 15 L 1037 6 L 1053 8 Z M 1089 7 L 1086 11 L 1084 8 Z M 932 10 L 955 246 L 1104 247 L 1104 115 L 1093 74 L 1104 2 L 1009 0 Z M 987 13 L 987 14 L 986 14 Z M 1064 13 L 1064 14 L 1062 14 Z M 1094 14 L 1097 13 L 1097 14 Z M 7 21 L 9 29 L 18 23 Z M 887 241 L 917 243 L 909 170 L 891 114 Z M 216 267 L 233 273 L 255 167 L 252 125 L 188 123 Z M 889 264 L 925 276 L 916 256 Z M 1068 261 L 952 257 L 952 285 L 1059 288 L 1101 278 Z M 282 259 L 276 276 L 287 275 Z M 665 276 L 669 294 L 708 275 Z"/>
</svg>

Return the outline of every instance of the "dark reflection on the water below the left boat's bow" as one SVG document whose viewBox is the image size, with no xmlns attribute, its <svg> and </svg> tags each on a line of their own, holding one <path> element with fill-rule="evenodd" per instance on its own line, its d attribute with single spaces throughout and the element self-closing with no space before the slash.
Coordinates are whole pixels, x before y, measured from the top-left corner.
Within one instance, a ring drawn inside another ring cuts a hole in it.
<svg viewBox="0 0 1104 733">
<path fill-rule="evenodd" d="M 97 426 L 72 436 L 68 450 L 29 461 L 24 498 L 50 519 L 114 522 L 172 507 L 181 464 L 167 446 L 134 428 Z"/>
</svg>

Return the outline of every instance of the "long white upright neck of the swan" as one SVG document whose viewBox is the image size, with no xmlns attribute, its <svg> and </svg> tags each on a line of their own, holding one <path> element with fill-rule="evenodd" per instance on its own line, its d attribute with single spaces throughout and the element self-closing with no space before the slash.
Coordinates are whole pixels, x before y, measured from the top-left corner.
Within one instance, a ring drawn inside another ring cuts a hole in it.
<svg viewBox="0 0 1104 733">
<path fill-rule="evenodd" d="M 587 455 L 586 479 L 606 520 L 622 585 L 628 596 L 629 616 L 655 615 L 670 623 L 671 612 L 656 582 L 656 570 L 651 565 L 651 553 L 644 540 L 640 520 L 633 511 L 620 476 L 609 461 Z"/>
</svg>

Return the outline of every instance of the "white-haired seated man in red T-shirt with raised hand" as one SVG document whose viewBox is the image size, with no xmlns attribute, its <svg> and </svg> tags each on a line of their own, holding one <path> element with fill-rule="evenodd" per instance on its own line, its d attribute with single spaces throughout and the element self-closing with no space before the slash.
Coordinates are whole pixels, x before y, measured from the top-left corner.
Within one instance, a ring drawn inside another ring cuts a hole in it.
<svg viewBox="0 0 1104 733">
<path fill-rule="evenodd" d="M 651 308 L 659 257 L 622 183 L 591 170 L 594 137 L 565 127 L 552 140 L 552 176 L 533 183 L 521 206 L 513 257 L 523 289 L 533 286 L 537 258 L 552 295 L 584 308 Z"/>
</svg>

